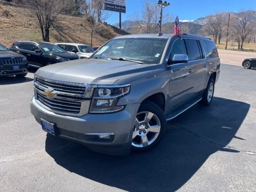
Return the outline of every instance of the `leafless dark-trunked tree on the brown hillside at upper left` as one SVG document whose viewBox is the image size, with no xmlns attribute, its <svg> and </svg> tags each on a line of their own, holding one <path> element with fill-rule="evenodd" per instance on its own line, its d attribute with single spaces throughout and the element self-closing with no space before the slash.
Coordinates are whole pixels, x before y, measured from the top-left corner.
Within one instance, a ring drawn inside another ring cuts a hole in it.
<svg viewBox="0 0 256 192">
<path fill-rule="evenodd" d="M 70 0 L 16 0 L 36 15 L 44 41 L 50 40 L 50 28 L 58 20 L 59 14 L 65 14 L 73 9 Z"/>
</svg>

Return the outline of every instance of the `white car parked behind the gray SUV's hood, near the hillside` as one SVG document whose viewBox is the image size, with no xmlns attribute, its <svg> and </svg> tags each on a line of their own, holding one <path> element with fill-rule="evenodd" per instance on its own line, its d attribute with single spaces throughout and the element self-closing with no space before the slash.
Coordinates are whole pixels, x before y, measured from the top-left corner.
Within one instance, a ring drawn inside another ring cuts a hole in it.
<svg viewBox="0 0 256 192">
<path fill-rule="evenodd" d="M 78 44 L 78 43 L 55 43 L 55 45 L 66 50 L 69 53 L 78 55 L 81 59 L 89 58 L 94 50 L 90 45 Z"/>
</svg>

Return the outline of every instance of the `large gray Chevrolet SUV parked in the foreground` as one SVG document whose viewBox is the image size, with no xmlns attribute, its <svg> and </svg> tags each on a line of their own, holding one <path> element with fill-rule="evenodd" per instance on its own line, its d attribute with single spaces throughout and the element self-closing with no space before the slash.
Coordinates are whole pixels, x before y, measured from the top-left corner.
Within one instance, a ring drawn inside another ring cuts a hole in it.
<svg viewBox="0 0 256 192">
<path fill-rule="evenodd" d="M 183 34 L 134 34 L 107 42 L 87 60 L 40 68 L 31 112 L 52 135 L 124 155 L 160 142 L 166 122 L 210 105 L 220 75 L 214 42 Z"/>
</svg>

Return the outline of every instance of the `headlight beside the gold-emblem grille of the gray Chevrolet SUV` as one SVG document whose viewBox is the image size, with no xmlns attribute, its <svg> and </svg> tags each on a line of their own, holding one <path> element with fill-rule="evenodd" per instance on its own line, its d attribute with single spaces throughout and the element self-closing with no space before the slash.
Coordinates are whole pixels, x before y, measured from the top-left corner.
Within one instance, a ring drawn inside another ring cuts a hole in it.
<svg viewBox="0 0 256 192">
<path fill-rule="evenodd" d="M 119 98 L 130 92 L 130 85 L 116 87 L 95 88 L 90 104 L 89 113 L 111 113 L 124 109 L 125 106 L 117 106 Z"/>
</svg>

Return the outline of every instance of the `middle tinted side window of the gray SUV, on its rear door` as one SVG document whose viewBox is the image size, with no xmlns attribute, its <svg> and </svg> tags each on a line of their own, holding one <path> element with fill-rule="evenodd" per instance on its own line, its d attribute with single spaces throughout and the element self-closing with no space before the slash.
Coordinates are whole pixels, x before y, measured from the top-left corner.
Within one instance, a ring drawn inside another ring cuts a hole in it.
<svg viewBox="0 0 256 192">
<path fill-rule="evenodd" d="M 185 43 L 188 49 L 189 61 L 202 59 L 202 51 L 201 51 L 198 40 L 186 39 Z"/>
</svg>

